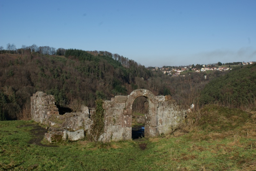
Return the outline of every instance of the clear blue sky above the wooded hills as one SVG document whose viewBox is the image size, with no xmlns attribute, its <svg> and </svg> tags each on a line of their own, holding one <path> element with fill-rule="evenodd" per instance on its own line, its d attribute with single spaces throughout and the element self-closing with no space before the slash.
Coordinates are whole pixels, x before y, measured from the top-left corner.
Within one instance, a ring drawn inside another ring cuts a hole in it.
<svg viewBox="0 0 256 171">
<path fill-rule="evenodd" d="M 109 51 L 144 66 L 256 61 L 255 0 L 0 1 L 0 46 Z"/>
</svg>

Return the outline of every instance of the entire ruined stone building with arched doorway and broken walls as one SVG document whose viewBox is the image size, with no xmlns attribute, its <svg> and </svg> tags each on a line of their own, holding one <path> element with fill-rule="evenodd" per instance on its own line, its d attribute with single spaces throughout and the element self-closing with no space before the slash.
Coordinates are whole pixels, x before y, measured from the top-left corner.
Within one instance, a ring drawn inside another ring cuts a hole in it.
<svg viewBox="0 0 256 171">
<path fill-rule="evenodd" d="M 169 134 L 185 121 L 186 110 L 177 105 L 171 96 L 155 96 L 147 89 L 136 89 L 128 96 L 103 100 L 104 132 L 99 141 L 132 139 L 132 104 L 140 96 L 148 100 L 145 137 Z M 95 108 L 82 106 L 81 112 L 60 115 L 53 95 L 38 91 L 31 97 L 31 118 L 50 127 L 48 133 L 45 133 L 45 138 L 50 143 L 84 139 L 90 134 L 94 112 Z"/>
</svg>

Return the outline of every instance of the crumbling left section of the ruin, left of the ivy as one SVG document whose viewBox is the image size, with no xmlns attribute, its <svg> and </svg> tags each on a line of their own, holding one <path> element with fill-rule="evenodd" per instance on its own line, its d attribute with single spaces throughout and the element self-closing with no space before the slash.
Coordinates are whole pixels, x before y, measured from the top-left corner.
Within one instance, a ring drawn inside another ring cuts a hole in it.
<svg viewBox="0 0 256 171">
<path fill-rule="evenodd" d="M 92 113 L 93 111 L 92 109 Z M 82 106 L 81 112 L 60 115 L 54 96 L 42 91 L 31 97 L 31 119 L 50 127 L 48 133 L 45 133 L 45 138 L 50 143 L 84 139 L 84 131 L 89 130 L 92 124 L 88 107 Z"/>
</svg>

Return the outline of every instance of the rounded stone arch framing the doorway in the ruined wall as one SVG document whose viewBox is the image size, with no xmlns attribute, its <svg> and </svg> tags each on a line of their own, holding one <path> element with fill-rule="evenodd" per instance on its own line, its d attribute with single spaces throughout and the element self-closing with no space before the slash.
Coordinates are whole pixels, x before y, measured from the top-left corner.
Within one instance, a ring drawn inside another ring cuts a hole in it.
<svg viewBox="0 0 256 171">
<path fill-rule="evenodd" d="M 147 89 L 136 89 L 132 91 L 130 95 L 127 96 L 127 101 L 125 104 L 126 114 L 129 117 L 129 122 L 132 123 L 132 104 L 134 100 L 140 96 L 146 97 L 148 100 L 148 116 L 146 116 L 145 123 L 145 137 L 158 136 L 159 132 L 157 130 L 157 107 L 158 101 L 155 99 L 155 95 Z M 125 122 L 126 120 L 124 120 Z M 132 126 L 130 124 L 130 126 Z M 132 136 L 132 133 L 129 134 Z M 131 138 L 131 137 L 130 137 Z"/>
</svg>

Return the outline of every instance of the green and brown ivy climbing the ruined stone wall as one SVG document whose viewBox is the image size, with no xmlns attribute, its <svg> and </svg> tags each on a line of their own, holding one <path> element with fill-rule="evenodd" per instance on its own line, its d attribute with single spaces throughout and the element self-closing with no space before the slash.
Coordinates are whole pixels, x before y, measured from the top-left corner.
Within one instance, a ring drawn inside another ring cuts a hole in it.
<svg viewBox="0 0 256 171">
<path fill-rule="evenodd" d="M 97 99 L 95 100 L 96 103 L 96 111 L 95 114 L 92 116 L 92 126 L 91 126 L 91 139 L 93 141 L 98 141 L 100 135 L 104 131 L 104 109 L 102 107 L 103 100 Z"/>
</svg>

